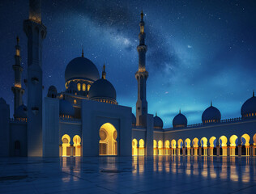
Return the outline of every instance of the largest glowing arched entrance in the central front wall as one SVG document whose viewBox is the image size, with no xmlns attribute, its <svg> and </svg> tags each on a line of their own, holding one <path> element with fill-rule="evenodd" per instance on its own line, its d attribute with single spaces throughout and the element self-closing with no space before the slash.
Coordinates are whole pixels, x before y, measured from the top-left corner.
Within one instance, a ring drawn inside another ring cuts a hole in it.
<svg viewBox="0 0 256 194">
<path fill-rule="evenodd" d="M 117 129 L 105 123 L 100 127 L 100 155 L 117 155 Z"/>
</svg>

